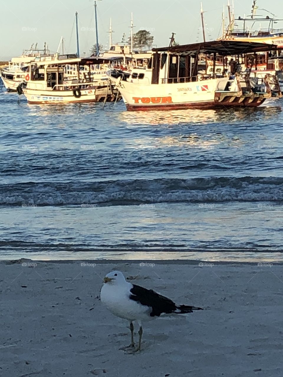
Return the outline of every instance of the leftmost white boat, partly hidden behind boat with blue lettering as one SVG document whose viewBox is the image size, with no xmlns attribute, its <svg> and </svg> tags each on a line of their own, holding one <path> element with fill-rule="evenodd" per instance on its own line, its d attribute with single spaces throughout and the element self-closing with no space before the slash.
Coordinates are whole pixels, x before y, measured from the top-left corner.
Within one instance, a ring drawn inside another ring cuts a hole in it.
<svg viewBox="0 0 283 377">
<path fill-rule="evenodd" d="M 0 76 L 7 91 L 15 92 L 17 90 L 19 83 L 25 80 L 26 70 L 31 61 L 40 57 L 52 56 L 53 55 L 50 54 L 45 42 L 42 50 L 37 48 L 37 43 L 35 44 L 35 47 L 33 47 L 32 44 L 29 49 L 23 51 L 23 54 L 20 57 L 12 58 L 7 66 L 0 69 Z"/>
</svg>

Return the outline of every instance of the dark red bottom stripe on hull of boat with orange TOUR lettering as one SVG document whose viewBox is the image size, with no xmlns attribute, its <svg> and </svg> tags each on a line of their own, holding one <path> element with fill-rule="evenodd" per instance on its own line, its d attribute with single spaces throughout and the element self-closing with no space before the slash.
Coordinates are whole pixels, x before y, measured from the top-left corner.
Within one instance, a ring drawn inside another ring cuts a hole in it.
<svg viewBox="0 0 283 377">
<path fill-rule="evenodd" d="M 240 98 L 236 98 L 233 102 L 229 102 L 231 97 L 220 103 L 212 101 L 201 103 L 168 103 L 164 105 L 129 105 L 126 104 L 128 111 L 152 111 L 152 110 L 186 110 L 186 109 L 217 109 L 219 107 L 257 107 L 260 106 L 265 98 L 261 98 L 258 102 L 258 97 L 249 103 L 249 98 L 244 101 L 238 102 Z"/>
</svg>

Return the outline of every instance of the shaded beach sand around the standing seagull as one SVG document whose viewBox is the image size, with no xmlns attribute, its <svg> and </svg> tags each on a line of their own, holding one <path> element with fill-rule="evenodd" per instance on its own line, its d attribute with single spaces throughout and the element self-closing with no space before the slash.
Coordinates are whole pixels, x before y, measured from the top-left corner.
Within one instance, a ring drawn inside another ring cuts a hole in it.
<svg viewBox="0 0 283 377">
<path fill-rule="evenodd" d="M 282 265 L 21 263 L 0 263 L 3 377 L 282 375 Z M 141 352 L 128 354 L 119 349 L 129 344 L 128 323 L 99 300 L 113 269 L 205 310 L 144 323 Z"/>
</svg>

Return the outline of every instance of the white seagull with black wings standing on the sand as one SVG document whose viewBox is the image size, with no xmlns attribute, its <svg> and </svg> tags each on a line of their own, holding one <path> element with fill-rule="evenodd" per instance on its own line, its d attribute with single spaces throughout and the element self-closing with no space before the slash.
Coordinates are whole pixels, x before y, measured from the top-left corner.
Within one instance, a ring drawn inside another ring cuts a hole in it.
<svg viewBox="0 0 283 377">
<path fill-rule="evenodd" d="M 130 323 L 131 344 L 122 349 L 132 349 L 132 352 L 140 351 L 143 328 L 141 322 L 160 317 L 161 314 L 187 314 L 193 310 L 203 310 L 188 305 L 176 305 L 172 300 L 161 296 L 152 289 L 140 287 L 126 281 L 120 271 L 112 271 L 103 279 L 104 283 L 100 292 L 100 299 L 108 310 L 115 316 L 127 319 Z M 135 349 L 134 325 L 137 321 L 138 347 Z"/>
</svg>

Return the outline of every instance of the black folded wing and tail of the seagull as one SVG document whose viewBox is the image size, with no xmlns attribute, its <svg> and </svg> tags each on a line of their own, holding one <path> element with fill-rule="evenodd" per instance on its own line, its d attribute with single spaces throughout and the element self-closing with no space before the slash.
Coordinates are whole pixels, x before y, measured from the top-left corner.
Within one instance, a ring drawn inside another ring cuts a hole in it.
<svg viewBox="0 0 283 377">
<path fill-rule="evenodd" d="M 165 296 L 161 296 L 154 292 L 152 289 L 146 289 L 140 287 L 139 285 L 133 284 L 131 288 L 130 299 L 139 302 L 141 305 L 148 306 L 152 309 L 150 316 L 160 316 L 162 313 L 171 314 L 185 314 L 192 313 L 193 310 L 201 310 L 201 308 L 196 308 L 187 305 L 177 306 L 172 300 Z"/>
</svg>

